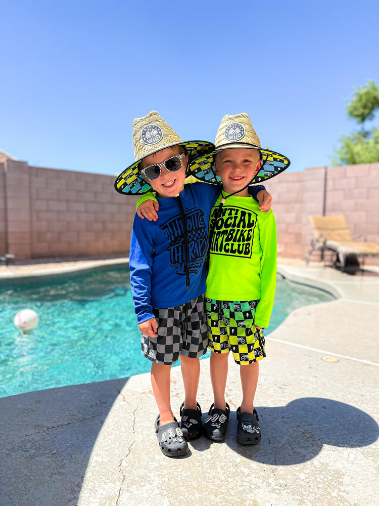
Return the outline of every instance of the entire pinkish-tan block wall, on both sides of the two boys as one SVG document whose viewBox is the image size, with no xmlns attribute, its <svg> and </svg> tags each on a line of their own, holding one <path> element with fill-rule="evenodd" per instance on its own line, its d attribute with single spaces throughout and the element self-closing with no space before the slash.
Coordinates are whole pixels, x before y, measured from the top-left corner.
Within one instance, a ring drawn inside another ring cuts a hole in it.
<svg viewBox="0 0 379 506">
<path fill-rule="evenodd" d="M 127 255 L 137 197 L 116 193 L 114 180 L 15 160 L 0 163 L 0 255 Z M 305 257 L 313 236 L 308 216 L 324 210 L 344 214 L 353 235 L 379 242 L 379 163 L 284 173 L 266 188 L 273 196 L 279 257 Z"/>
</svg>

